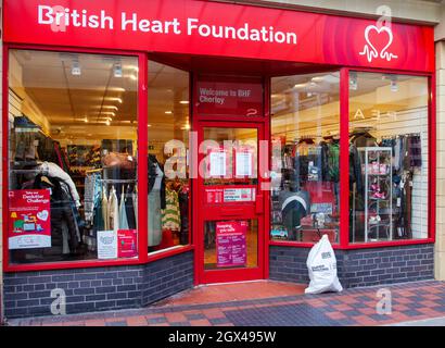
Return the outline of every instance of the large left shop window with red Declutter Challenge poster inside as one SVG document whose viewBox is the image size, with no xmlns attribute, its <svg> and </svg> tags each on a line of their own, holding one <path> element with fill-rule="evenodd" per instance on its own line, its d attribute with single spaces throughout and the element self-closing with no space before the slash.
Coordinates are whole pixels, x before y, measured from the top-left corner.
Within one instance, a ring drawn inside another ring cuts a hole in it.
<svg viewBox="0 0 445 348">
<path fill-rule="evenodd" d="M 138 257 L 134 57 L 10 50 L 11 263 Z"/>
</svg>

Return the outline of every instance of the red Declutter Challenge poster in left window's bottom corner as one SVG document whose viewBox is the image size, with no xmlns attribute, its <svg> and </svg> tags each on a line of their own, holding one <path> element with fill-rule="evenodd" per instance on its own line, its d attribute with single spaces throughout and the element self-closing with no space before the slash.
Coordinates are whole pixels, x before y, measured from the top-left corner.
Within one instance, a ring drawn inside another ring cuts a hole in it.
<svg viewBox="0 0 445 348">
<path fill-rule="evenodd" d="M 51 208 L 48 189 L 18 189 L 8 192 L 9 248 L 51 247 Z"/>
</svg>

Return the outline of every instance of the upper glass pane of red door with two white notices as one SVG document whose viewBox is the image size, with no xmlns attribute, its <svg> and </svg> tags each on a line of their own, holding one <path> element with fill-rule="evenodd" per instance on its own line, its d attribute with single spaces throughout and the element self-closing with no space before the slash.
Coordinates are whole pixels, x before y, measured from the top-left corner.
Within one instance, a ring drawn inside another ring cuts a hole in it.
<svg viewBox="0 0 445 348">
<path fill-rule="evenodd" d="M 204 185 L 256 185 L 257 147 L 256 128 L 204 128 Z"/>
</svg>

